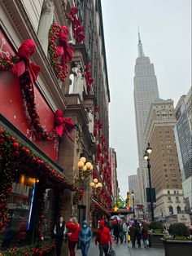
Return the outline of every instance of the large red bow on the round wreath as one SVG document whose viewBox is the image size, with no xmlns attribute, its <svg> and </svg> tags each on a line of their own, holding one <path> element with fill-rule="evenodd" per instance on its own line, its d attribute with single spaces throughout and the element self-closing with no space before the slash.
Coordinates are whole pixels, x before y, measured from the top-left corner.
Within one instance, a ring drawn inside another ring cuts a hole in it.
<svg viewBox="0 0 192 256">
<path fill-rule="evenodd" d="M 61 27 L 59 33 L 59 45 L 56 47 L 57 55 L 61 59 L 63 73 L 66 76 L 68 73 L 66 64 L 72 60 L 72 47 L 68 45 L 68 28 Z"/>
</svg>

